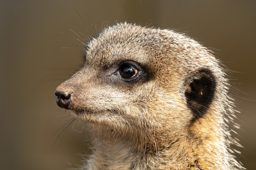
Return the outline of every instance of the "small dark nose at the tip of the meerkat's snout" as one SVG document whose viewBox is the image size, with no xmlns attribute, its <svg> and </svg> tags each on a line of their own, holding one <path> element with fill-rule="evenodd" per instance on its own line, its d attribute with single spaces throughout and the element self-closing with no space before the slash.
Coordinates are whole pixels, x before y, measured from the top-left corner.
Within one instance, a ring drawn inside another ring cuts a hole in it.
<svg viewBox="0 0 256 170">
<path fill-rule="evenodd" d="M 57 105 L 61 108 L 69 109 L 70 103 L 72 102 L 72 94 L 56 90 L 55 95 Z"/>
</svg>

